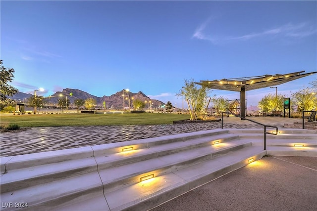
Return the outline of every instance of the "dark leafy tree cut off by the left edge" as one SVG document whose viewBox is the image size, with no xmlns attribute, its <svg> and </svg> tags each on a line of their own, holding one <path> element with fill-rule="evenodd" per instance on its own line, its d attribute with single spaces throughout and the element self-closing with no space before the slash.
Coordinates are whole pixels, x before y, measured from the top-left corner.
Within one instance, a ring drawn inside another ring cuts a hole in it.
<svg viewBox="0 0 317 211">
<path fill-rule="evenodd" d="M 13 96 L 18 92 L 18 89 L 8 84 L 8 82 L 12 82 L 12 79 L 14 78 L 14 69 L 5 68 L 2 65 L 2 60 L 0 60 L 0 67 L 0 107 L 2 108 L 12 103 L 9 99 L 7 99 L 6 95 Z"/>
</svg>

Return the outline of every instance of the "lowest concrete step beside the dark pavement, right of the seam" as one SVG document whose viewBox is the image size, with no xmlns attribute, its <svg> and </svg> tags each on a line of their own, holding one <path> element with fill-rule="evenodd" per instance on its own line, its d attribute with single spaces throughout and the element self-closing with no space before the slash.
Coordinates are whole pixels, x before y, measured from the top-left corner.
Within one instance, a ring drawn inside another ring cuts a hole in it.
<svg viewBox="0 0 317 211">
<path fill-rule="evenodd" d="M 262 158 L 264 154 L 265 152 L 261 148 L 249 146 L 228 153 L 226 156 L 219 156 L 187 168 L 172 170 L 169 173 L 155 176 L 149 181 L 105 192 L 105 197 L 111 211 L 146 211 L 247 165 L 250 158 L 254 158 L 254 160 Z"/>
</svg>

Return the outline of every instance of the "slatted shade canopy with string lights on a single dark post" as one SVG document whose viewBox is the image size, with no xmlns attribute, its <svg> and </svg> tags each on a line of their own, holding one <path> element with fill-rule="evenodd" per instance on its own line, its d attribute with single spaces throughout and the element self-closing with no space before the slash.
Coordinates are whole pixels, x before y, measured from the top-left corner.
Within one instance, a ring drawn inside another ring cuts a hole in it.
<svg viewBox="0 0 317 211">
<path fill-rule="evenodd" d="M 270 87 L 274 85 L 284 84 L 296 79 L 316 74 L 317 72 L 305 73 L 305 71 L 288 73 L 288 74 L 275 74 L 264 76 L 253 76 L 234 79 L 221 79 L 213 81 L 200 81 L 195 84 L 207 86 L 211 89 L 220 89 L 228 91 L 239 91 L 241 102 L 241 117 L 245 118 L 245 92 L 249 90 Z"/>
</svg>

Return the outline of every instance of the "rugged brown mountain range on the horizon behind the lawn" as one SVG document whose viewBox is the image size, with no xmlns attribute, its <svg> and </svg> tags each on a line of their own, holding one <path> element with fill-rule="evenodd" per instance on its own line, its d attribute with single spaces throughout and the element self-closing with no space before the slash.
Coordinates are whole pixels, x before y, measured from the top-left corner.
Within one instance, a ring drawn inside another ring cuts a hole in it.
<svg viewBox="0 0 317 211">
<path fill-rule="evenodd" d="M 70 93 L 72 95 L 70 96 Z M 61 97 L 60 95 L 67 96 L 67 99 L 69 99 L 70 103 L 73 103 L 75 99 L 83 99 L 86 100 L 88 98 L 93 98 L 97 101 L 97 106 L 103 107 L 103 103 L 106 102 L 106 107 L 107 108 L 113 108 L 113 109 L 122 109 L 123 107 L 123 96 L 122 96 L 122 91 L 117 91 L 115 94 L 112 94 L 110 96 L 104 95 L 103 97 L 97 97 L 95 95 L 91 95 L 85 91 L 79 90 L 79 89 L 72 89 L 72 88 L 65 88 L 62 91 L 57 91 L 54 94 L 51 95 L 51 97 L 45 97 L 45 100 L 47 104 L 49 105 L 54 105 L 57 103 L 58 98 Z M 146 102 L 146 108 L 152 105 L 152 108 L 157 108 L 160 105 L 164 105 L 162 101 L 155 100 L 155 99 L 150 99 L 147 95 L 145 95 L 142 91 L 139 91 L 137 93 L 133 92 L 124 92 L 125 99 L 124 99 L 124 106 L 128 106 L 128 101 L 130 98 L 130 104 L 132 106 L 132 101 L 133 99 L 139 99 L 141 101 L 147 101 Z M 13 100 L 19 101 L 19 102 L 24 102 L 27 103 L 28 98 L 33 97 L 33 94 L 26 94 L 23 92 L 18 92 L 15 94 L 13 97 L 8 97 Z M 37 92 L 36 94 L 37 97 L 40 97 L 41 94 Z M 151 102 L 149 102 L 151 101 Z"/>
</svg>

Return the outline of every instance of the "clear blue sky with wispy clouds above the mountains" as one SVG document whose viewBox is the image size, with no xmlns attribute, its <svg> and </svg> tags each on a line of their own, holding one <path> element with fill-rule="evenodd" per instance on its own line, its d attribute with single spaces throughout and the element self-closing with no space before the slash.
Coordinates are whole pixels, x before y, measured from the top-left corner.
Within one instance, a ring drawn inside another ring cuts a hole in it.
<svg viewBox="0 0 317 211">
<path fill-rule="evenodd" d="M 75 88 L 102 97 L 129 88 L 181 107 L 175 94 L 185 79 L 317 71 L 317 1 L 1 0 L 0 9 L 0 57 L 26 93 Z M 267 93 L 275 89 L 248 91 L 247 104 Z"/>
</svg>

